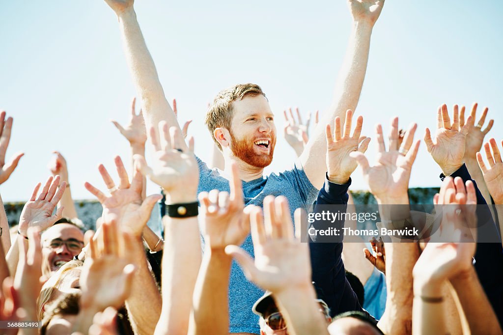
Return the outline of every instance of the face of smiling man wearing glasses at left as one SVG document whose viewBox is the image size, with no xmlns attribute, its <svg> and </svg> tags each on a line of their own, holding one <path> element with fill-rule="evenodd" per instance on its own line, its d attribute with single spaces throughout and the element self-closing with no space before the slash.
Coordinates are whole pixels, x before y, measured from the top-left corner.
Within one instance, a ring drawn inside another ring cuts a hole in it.
<svg viewBox="0 0 503 335">
<path fill-rule="evenodd" d="M 71 221 L 62 219 L 41 236 L 42 274 L 49 278 L 62 265 L 78 255 L 84 246 L 84 233 Z"/>
</svg>

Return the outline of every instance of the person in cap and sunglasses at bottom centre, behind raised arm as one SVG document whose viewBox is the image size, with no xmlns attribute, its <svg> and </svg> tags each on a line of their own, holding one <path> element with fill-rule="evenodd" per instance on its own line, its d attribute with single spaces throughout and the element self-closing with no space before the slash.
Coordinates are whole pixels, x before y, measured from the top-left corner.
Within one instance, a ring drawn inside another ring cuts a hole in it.
<svg viewBox="0 0 503 335">
<path fill-rule="evenodd" d="M 321 290 L 316 288 L 316 301 L 319 304 L 319 311 L 325 317 L 326 324 L 328 325 L 332 321 L 332 318 L 330 317 L 330 309 L 322 299 L 322 294 Z M 267 291 L 257 300 L 251 310 L 260 316 L 259 324 L 261 335 L 288 334 L 286 321 L 274 301 L 272 292 Z"/>
</svg>

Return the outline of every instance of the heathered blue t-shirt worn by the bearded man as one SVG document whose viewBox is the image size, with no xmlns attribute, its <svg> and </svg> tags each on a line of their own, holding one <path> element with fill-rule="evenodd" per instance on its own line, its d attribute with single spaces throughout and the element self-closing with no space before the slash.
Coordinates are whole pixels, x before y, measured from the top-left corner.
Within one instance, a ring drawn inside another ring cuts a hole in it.
<svg viewBox="0 0 503 335">
<path fill-rule="evenodd" d="M 206 163 L 197 158 L 199 165 L 199 187 L 197 192 L 219 190 L 230 192 L 229 181 L 220 176 L 217 169 L 210 170 Z M 244 205 L 263 205 L 268 195 L 285 196 L 292 214 L 299 207 L 307 209 L 316 199 L 318 190 L 314 188 L 297 162 L 292 170 L 280 174 L 272 173 L 249 182 L 243 182 Z M 251 236 L 246 237 L 241 247 L 254 257 Z M 264 294 L 260 288 L 250 283 L 241 268 L 232 261 L 229 282 L 229 332 L 249 332 L 260 334 L 259 316 L 251 311 L 254 303 Z"/>
</svg>

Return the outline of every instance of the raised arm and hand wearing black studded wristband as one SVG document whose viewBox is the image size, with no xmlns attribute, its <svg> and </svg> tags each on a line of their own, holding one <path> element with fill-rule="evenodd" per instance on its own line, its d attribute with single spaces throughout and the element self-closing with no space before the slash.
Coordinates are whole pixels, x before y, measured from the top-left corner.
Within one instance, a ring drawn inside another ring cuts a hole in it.
<svg viewBox="0 0 503 335">
<path fill-rule="evenodd" d="M 162 217 L 165 236 L 162 309 L 155 334 L 186 334 L 192 308 L 190 297 L 201 265 L 199 226 L 197 216 L 190 210 L 197 206 L 199 170 L 193 139 L 189 140 L 189 148 L 184 150 L 181 149 L 184 139 L 176 127 L 168 131 L 163 121 L 159 124 L 160 134 L 156 132 L 157 128 L 150 129 L 153 144 L 151 165 L 147 165 L 143 156 L 135 156 L 141 173 L 159 185 L 166 194 L 167 215 Z M 160 141 L 156 141 L 156 138 L 160 138 Z"/>
</svg>

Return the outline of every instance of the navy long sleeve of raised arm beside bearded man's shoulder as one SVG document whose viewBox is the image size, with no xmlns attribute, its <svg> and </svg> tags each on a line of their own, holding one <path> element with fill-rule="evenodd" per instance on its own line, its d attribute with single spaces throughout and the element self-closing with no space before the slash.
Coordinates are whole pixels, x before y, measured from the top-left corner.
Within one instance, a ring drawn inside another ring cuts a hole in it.
<svg viewBox="0 0 503 335">
<path fill-rule="evenodd" d="M 323 209 L 326 210 L 327 207 L 323 205 L 342 205 L 337 206 L 337 210 L 342 212 L 342 209 L 344 209 L 345 212 L 348 205 L 348 188 L 350 185 L 351 179 L 345 185 L 334 184 L 325 180 L 323 188 L 318 193 L 315 213 L 320 213 Z M 337 210 L 334 208 L 334 211 Z M 317 220 L 311 223 L 310 227 L 323 230 L 343 226 L 344 220 L 333 223 L 329 220 Z M 342 238 L 340 242 L 333 242 L 333 240 L 333 236 L 318 235 L 311 237 L 309 249 L 312 279 L 316 286 L 323 290 L 325 302 L 330 307 L 332 316 L 346 311 L 364 311 L 358 302 L 356 293 L 346 279 L 346 271 L 342 260 Z"/>
</svg>

